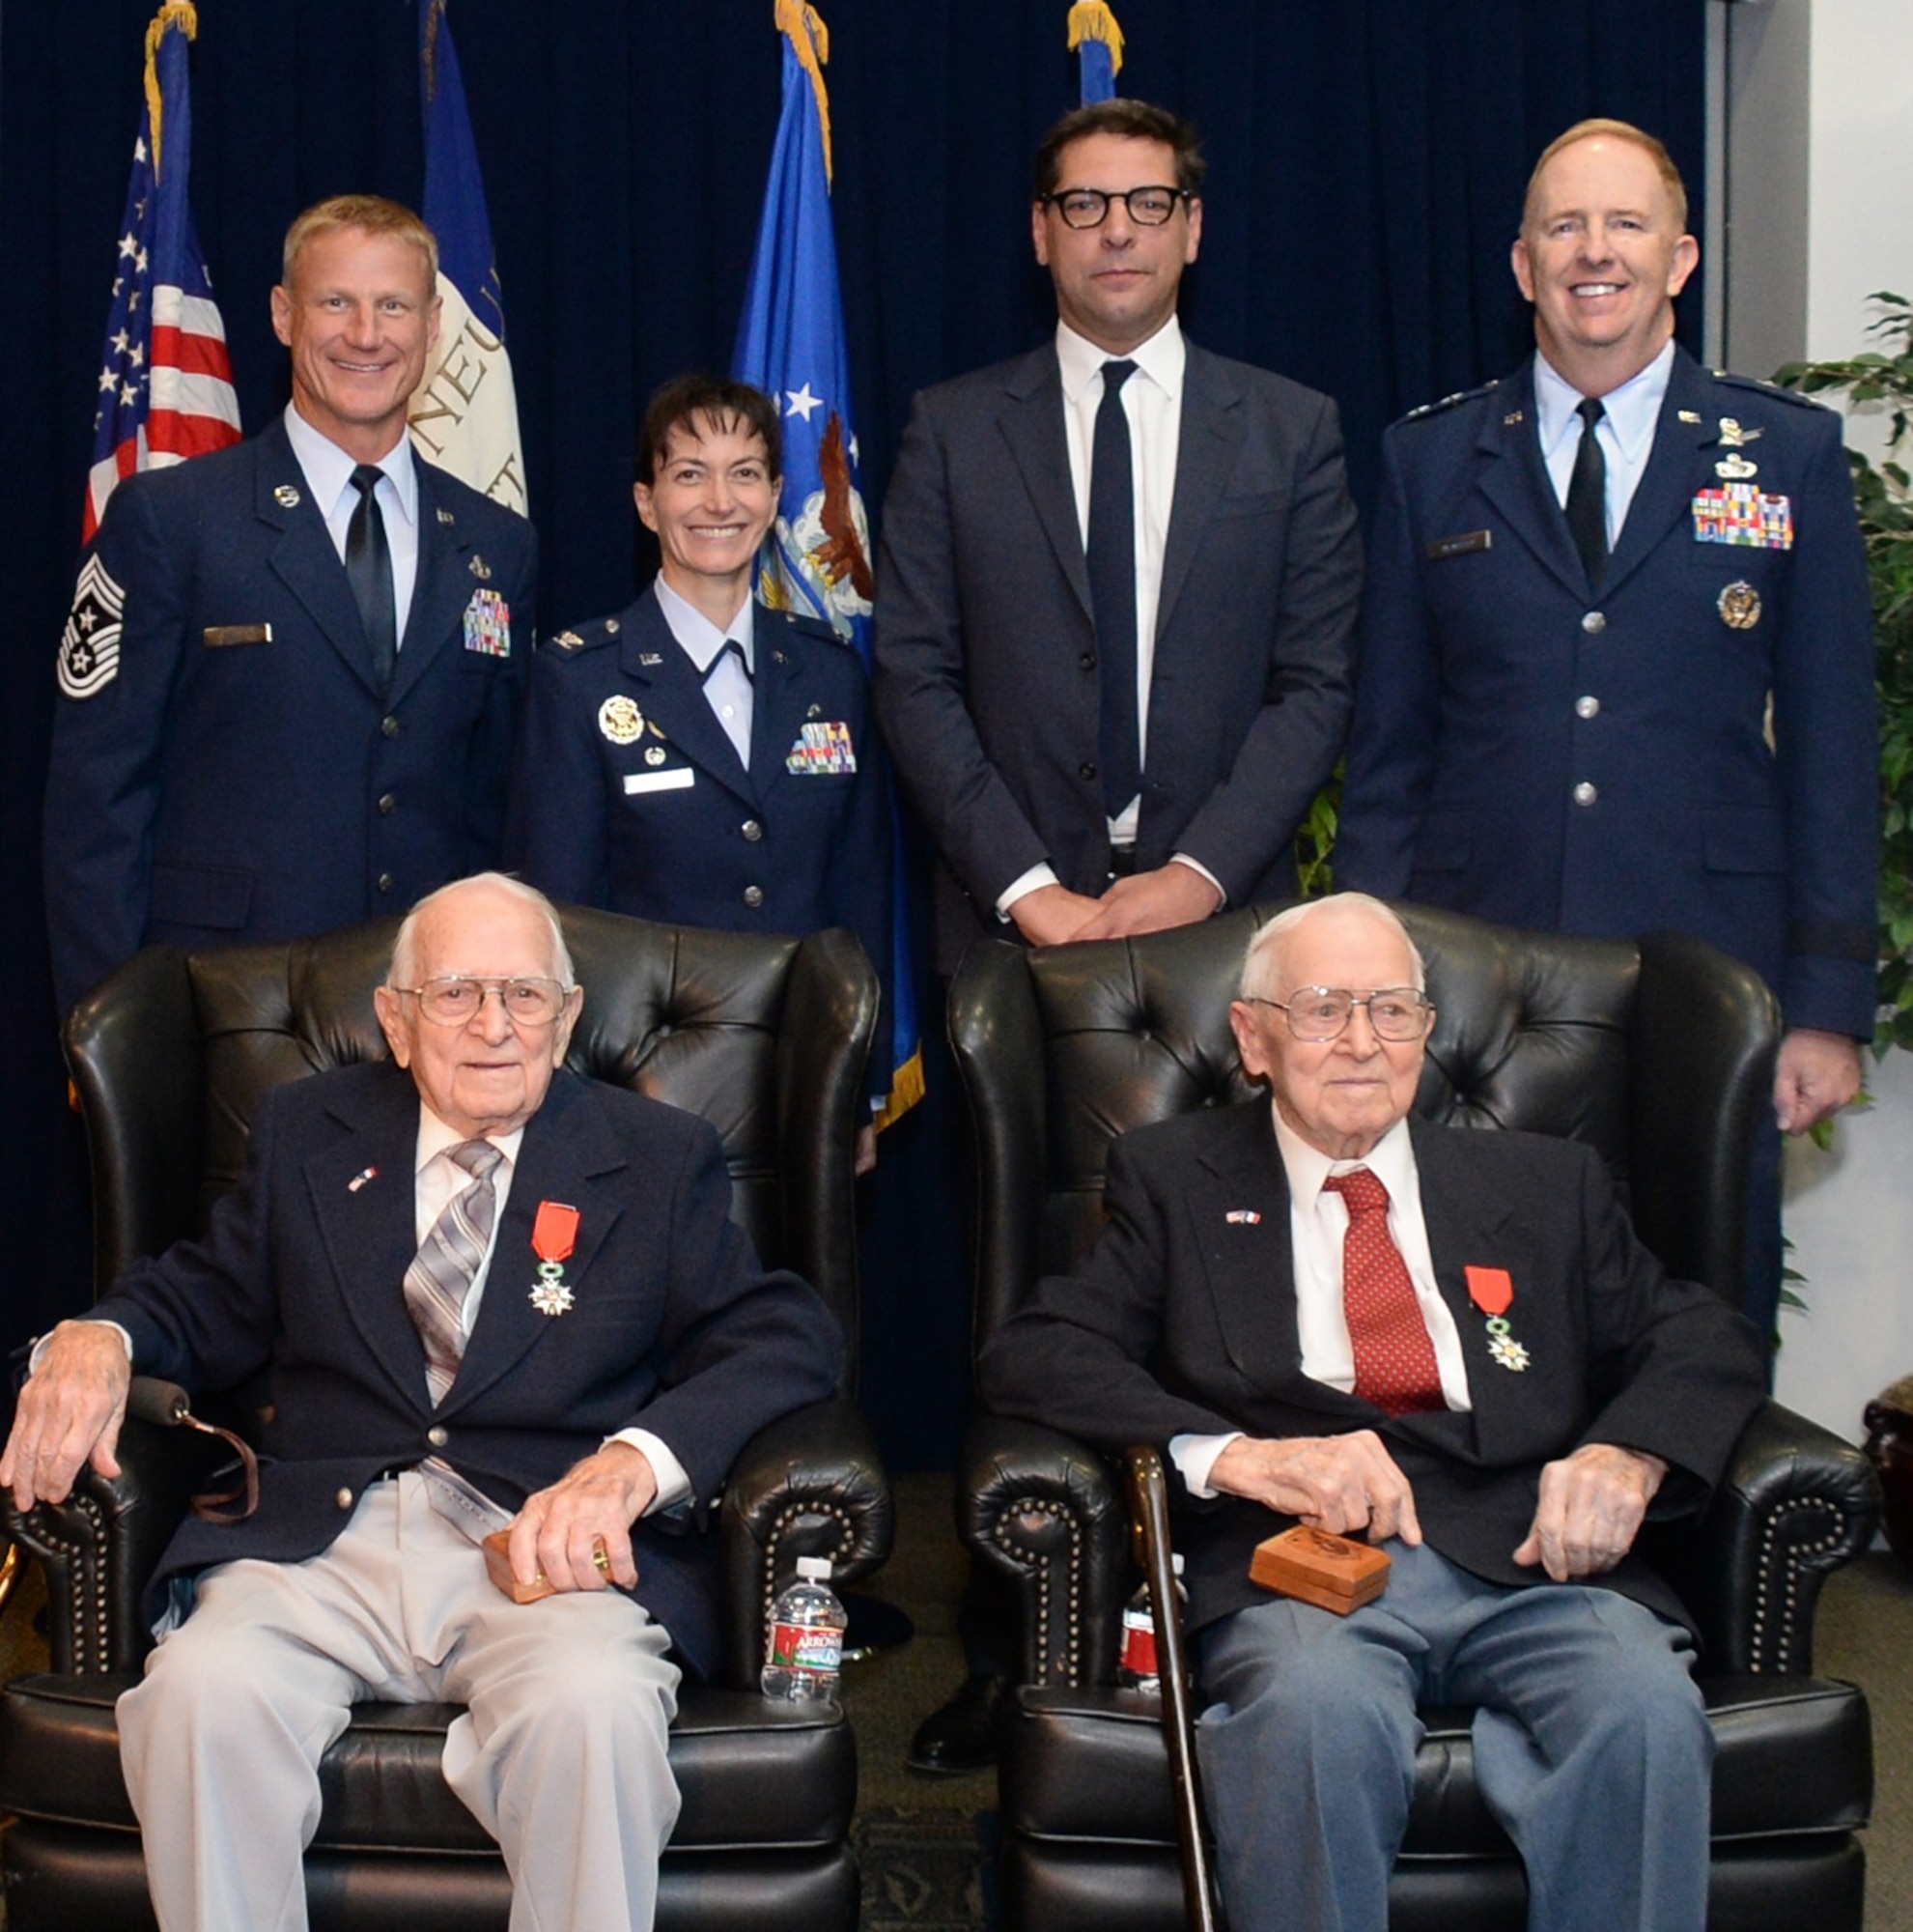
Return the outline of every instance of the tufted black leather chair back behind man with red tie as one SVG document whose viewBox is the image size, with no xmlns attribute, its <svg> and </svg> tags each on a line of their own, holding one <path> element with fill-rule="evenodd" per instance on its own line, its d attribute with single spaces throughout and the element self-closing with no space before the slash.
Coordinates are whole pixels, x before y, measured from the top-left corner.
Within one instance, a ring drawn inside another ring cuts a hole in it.
<svg viewBox="0 0 1913 1932">
<path fill-rule="evenodd" d="M 978 1136 L 978 1345 L 1094 1242 L 1119 1134 L 1258 1092 L 1229 1001 L 1250 933 L 1279 910 L 1036 952 L 982 941 L 964 954 L 951 1043 Z M 1780 1037 L 1760 978 L 1681 933 L 1627 943 L 1395 910 L 1436 1005 L 1416 1111 L 1590 1142 L 1662 1264 L 1737 1300 L 1737 1150 Z"/>
</svg>

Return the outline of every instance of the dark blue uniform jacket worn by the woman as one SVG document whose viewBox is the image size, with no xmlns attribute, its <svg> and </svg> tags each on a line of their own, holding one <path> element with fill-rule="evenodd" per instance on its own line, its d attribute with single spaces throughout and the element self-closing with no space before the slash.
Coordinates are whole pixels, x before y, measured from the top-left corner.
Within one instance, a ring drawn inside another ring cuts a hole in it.
<svg viewBox="0 0 1913 1932">
<path fill-rule="evenodd" d="M 891 810 L 870 680 L 827 624 L 759 605 L 752 626 L 748 771 L 655 589 L 547 638 L 518 746 L 510 862 L 553 898 L 669 925 L 848 925 L 889 995 Z M 636 705 L 636 734 L 605 730 L 611 699 Z M 806 761 L 806 726 L 842 726 L 841 752 Z"/>
</svg>

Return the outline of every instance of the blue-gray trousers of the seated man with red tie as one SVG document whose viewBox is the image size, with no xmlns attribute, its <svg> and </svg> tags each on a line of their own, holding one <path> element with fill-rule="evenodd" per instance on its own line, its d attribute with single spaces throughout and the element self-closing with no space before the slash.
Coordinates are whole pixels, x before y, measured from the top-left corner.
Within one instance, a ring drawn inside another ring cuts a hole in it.
<svg viewBox="0 0 1913 1932">
<path fill-rule="evenodd" d="M 1532 1932 L 1700 1932 L 1714 1733 L 1685 1631 L 1613 1590 L 1482 1582 L 1387 1546 L 1349 1617 L 1270 1598 L 1196 1636 L 1231 1932 L 1385 1932 L 1418 1702 L 1472 1704 Z"/>
</svg>

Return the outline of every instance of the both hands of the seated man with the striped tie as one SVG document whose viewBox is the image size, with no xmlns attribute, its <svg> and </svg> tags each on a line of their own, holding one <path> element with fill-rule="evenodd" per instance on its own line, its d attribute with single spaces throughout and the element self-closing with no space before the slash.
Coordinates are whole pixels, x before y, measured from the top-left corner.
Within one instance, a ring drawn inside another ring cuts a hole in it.
<svg viewBox="0 0 1913 1932">
<path fill-rule="evenodd" d="M 83 1463 L 118 1476 L 120 1426 L 131 1362 L 120 1331 L 104 1321 L 62 1321 L 19 1391 L 14 1430 L 0 1453 L 0 1488 L 14 1507 L 64 1503 Z M 638 1563 L 632 1524 L 651 1507 L 657 1476 L 642 1449 L 611 1441 L 526 1497 L 512 1519 L 512 1575 L 539 1573 L 555 1590 L 632 1588 Z M 603 1551 L 603 1567 L 599 1565 Z"/>
</svg>

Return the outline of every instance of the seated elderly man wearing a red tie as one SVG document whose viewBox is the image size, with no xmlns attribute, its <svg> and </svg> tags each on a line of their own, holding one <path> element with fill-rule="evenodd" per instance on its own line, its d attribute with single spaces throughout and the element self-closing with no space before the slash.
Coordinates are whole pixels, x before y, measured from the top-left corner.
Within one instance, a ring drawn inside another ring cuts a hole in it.
<svg viewBox="0 0 1913 1932">
<path fill-rule="evenodd" d="M 1590 1148 L 1409 1119 L 1434 1009 L 1380 900 L 1264 925 L 1229 1020 L 1273 1105 L 1125 1136 L 1101 1240 L 982 1364 L 1005 1414 L 1167 1445 L 1229 1924 L 1382 1932 L 1416 1706 L 1453 1702 L 1534 1932 L 1700 1932 L 1712 1733 L 1631 1548 L 1718 1480 L 1753 1327 Z M 1262 1590 L 1289 1522 L 1384 1546 L 1385 1594 Z"/>
</svg>

